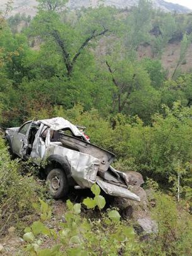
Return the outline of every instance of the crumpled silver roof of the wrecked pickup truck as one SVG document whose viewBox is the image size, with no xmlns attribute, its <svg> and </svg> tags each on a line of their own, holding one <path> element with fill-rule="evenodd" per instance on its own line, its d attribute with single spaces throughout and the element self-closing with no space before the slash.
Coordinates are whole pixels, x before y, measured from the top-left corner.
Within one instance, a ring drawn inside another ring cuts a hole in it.
<svg viewBox="0 0 192 256">
<path fill-rule="evenodd" d="M 44 119 L 44 120 L 40 120 L 40 122 L 50 127 L 50 129 L 53 131 L 69 128 L 75 136 L 82 136 L 82 132 L 80 132 L 75 125 L 73 125 L 68 120 L 65 120 L 63 117 Z"/>
</svg>

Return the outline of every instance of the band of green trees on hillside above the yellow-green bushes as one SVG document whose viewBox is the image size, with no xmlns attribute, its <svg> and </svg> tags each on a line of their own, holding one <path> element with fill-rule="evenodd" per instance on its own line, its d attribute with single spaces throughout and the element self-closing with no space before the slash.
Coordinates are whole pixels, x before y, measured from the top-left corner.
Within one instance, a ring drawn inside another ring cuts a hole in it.
<svg viewBox="0 0 192 256">
<path fill-rule="evenodd" d="M 8 23 L 4 19 L 1 125 L 16 126 L 38 115 L 51 117 L 55 106 L 72 109 L 78 104 L 84 110 L 99 110 L 102 117 L 117 112 L 138 115 L 148 125 L 152 115 L 161 112 L 161 104 L 173 107 L 180 100 L 184 106 L 191 105 L 190 75 L 178 77 L 177 71 L 191 41 L 188 16 L 154 11 L 146 0 L 129 13 L 102 4 L 97 11 L 71 11 L 67 1 L 39 2 L 32 20 L 19 14 Z M 25 29 L 16 31 L 22 21 Z M 176 35 L 181 35 L 181 54 L 173 75 L 178 78 L 164 81 L 160 61 L 140 60 L 136 50 L 147 44 L 158 55 Z"/>
</svg>

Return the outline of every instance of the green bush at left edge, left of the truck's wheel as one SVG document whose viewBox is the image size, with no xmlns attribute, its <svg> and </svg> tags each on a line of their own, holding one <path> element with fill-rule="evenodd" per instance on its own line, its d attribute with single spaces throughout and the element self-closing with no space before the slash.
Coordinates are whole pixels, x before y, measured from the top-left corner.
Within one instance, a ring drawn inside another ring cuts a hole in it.
<svg viewBox="0 0 192 256">
<path fill-rule="evenodd" d="M 15 225 L 21 229 L 22 219 L 33 214 L 32 204 L 42 193 L 42 186 L 33 176 L 21 175 L 19 161 L 10 160 L 3 139 L 0 138 L 0 234 L 3 235 Z"/>
</svg>

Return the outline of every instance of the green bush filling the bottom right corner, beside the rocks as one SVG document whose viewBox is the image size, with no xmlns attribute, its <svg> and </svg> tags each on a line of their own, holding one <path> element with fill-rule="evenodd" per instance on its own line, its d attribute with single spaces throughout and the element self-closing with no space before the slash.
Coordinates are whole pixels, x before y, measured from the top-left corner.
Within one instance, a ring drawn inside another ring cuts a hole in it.
<svg viewBox="0 0 192 256">
<path fill-rule="evenodd" d="M 192 225 L 189 213 L 177 205 L 171 196 L 156 191 L 156 207 L 152 217 L 158 225 L 158 232 L 145 243 L 146 255 L 189 255 L 191 252 Z"/>
</svg>

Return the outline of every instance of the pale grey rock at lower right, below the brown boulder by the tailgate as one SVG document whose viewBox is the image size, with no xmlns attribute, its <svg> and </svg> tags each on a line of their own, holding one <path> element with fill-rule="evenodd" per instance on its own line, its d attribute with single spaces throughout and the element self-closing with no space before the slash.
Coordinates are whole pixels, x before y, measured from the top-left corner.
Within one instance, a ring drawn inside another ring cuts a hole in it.
<svg viewBox="0 0 192 256">
<path fill-rule="evenodd" d="M 138 219 L 137 223 L 139 224 L 139 228 L 136 228 L 138 233 L 157 233 L 157 223 L 150 217 Z"/>
</svg>

